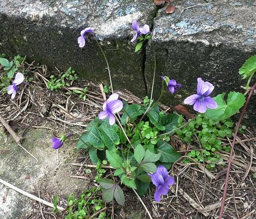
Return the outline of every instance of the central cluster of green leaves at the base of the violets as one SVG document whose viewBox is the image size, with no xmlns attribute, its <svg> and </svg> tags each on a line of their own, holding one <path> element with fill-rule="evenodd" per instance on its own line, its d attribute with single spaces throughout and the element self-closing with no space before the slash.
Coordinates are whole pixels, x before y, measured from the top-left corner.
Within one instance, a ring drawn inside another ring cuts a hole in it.
<svg viewBox="0 0 256 219">
<path fill-rule="evenodd" d="M 139 195 L 145 194 L 151 182 L 147 173 L 155 172 L 158 165 L 170 169 L 171 164 L 180 157 L 168 144 L 170 138 L 159 136 L 178 125 L 179 116 L 164 114 L 157 105 L 141 120 L 146 108 L 138 104 L 124 104 L 121 124 L 129 141 L 119 126 L 110 126 L 108 121 L 96 118 L 91 121 L 77 144 L 77 149 L 89 150 L 93 163 L 107 160 L 115 168 L 114 176 L 120 178 L 121 184 L 137 189 Z M 112 201 L 115 191 L 119 190 L 117 183 L 112 184 L 107 194 L 103 195 L 107 202 Z"/>
</svg>

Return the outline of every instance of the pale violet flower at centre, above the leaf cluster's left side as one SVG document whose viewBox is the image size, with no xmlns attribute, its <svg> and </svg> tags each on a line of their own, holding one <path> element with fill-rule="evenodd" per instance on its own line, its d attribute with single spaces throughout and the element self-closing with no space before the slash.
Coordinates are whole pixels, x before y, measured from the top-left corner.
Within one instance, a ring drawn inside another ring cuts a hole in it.
<svg viewBox="0 0 256 219">
<path fill-rule="evenodd" d="M 121 100 L 118 100 L 118 94 L 111 94 L 109 99 L 103 104 L 103 111 L 99 113 L 99 119 L 109 118 L 109 124 L 114 125 L 116 122 L 115 113 L 118 113 L 122 110 L 123 103 Z"/>
</svg>

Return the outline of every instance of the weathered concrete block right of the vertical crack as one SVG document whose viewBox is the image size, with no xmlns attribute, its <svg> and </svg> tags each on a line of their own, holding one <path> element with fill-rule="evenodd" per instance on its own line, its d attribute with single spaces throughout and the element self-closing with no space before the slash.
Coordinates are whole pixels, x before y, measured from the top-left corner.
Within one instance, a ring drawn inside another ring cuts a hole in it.
<svg viewBox="0 0 256 219">
<path fill-rule="evenodd" d="M 199 4 L 199 5 L 198 5 Z M 215 85 L 213 95 L 242 91 L 245 84 L 239 68 L 256 54 L 256 3 L 248 1 L 177 1 L 173 14 L 164 8 L 154 19 L 153 40 L 157 53 L 157 84 L 160 75 L 178 79 L 183 87 L 177 95 L 168 94 L 166 101 L 180 103 L 196 91 L 198 77 Z M 152 45 L 147 48 L 146 81 L 151 87 L 153 69 Z M 243 91 L 242 91 L 243 92 Z M 256 120 L 255 96 L 250 118 Z"/>
</svg>

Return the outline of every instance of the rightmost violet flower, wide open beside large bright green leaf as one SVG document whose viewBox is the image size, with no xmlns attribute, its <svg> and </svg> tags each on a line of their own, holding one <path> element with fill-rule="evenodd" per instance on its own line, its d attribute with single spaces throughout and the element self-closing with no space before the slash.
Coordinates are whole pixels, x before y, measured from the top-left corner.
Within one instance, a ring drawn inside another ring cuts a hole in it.
<svg viewBox="0 0 256 219">
<path fill-rule="evenodd" d="M 214 86 L 209 82 L 197 79 L 197 94 L 193 94 L 184 100 L 184 104 L 193 105 L 193 109 L 199 113 L 205 113 L 207 108 L 216 109 L 217 103 L 210 95 Z"/>
</svg>

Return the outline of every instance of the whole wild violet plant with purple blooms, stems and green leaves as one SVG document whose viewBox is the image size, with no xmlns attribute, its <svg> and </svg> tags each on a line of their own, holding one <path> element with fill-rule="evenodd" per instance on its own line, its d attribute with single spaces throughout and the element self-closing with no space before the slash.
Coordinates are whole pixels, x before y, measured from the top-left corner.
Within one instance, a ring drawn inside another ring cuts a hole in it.
<svg viewBox="0 0 256 219">
<path fill-rule="evenodd" d="M 138 41 L 135 49 L 138 51 L 143 42 L 151 39 L 150 30 L 147 25 L 140 28 L 136 21 L 133 22 L 132 28 L 136 33 L 131 42 Z M 92 30 L 93 28 L 86 29 Z M 81 36 L 79 38 L 78 43 L 81 46 L 82 38 Z M 97 42 L 96 37 L 95 40 Z M 97 44 L 108 66 L 107 57 L 100 44 L 98 42 Z M 155 67 L 153 85 L 154 77 Z M 115 169 L 114 176 L 120 178 L 121 184 L 136 189 L 139 195 L 145 194 L 150 182 L 153 182 L 156 186 L 154 198 L 157 202 L 160 201 L 162 195 L 167 195 L 169 186 L 174 184 L 174 178 L 168 175 L 168 169 L 180 158 L 180 154 L 168 143 L 170 135 L 191 123 L 189 121 L 184 125 L 182 115 L 166 114 L 160 110 L 158 102 L 165 92 L 164 82 L 171 94 L 178 92 L 178 89 L 182 87 L 174 79 L 170 80 L 167 76 L 161 76 L 161 78 L 163 88 L 157 101 L 153 101 L 152 86 L 151 98 L 145 99 L 145 105 L 129 105 L 126 101 L 118 99 L 118 94 L 114 93 L 109 70 L 112 94 L 104 102 L 103 111 L 91 121 L 77 143 L 77 149 L 89 150 L 93 163 L 105 163 L 107 160 Z M 186 98 L 184 103 L 194 105 L 195 111 L 201 113 L 199 115 L 218 121 L 229 118 L 242 107 L 245 100 L 243 94 L 230 92 L 228 95 L 230 98 L 228 97 L 226 103 L 223 100 L 224 94 L 219 94 L 215 98 L 209 96 L 214 89 L 210 82 L 205 82 L 201 78 L 197 81 L 197 94 Z M 193 134 L 196 133 L 191 132 L 191 136 Z M 100 181 L 103 199 L 106 202 L 115 198 L 117 203 L 124 205 L 120 182 L 111 179 Z"/>
</svg>

